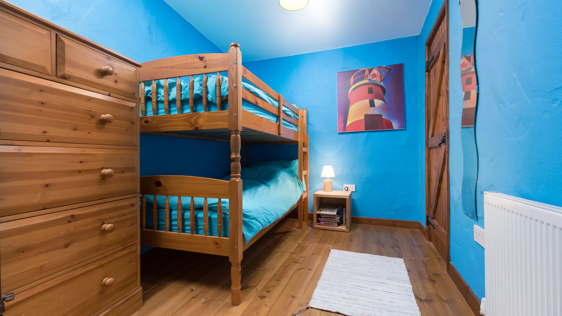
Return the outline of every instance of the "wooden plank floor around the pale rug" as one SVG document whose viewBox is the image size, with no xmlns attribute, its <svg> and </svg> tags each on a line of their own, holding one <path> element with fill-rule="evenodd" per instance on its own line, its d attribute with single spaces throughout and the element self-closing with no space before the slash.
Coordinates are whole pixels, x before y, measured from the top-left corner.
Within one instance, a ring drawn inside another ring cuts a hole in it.
<svg viewBox="0 0 562 316">
<path fill-rule="evenodd" d="M 309 302 L 334 249 L 398 258 L 422 316 L 473 316 L 437 254 L 414 229 L 353 224 L 349 233 L 297 229 L 286 218 L 244 251 L 242 304 L 230 304 L 228 258 L 169 249 L 141 256 L 143 307 L 137 316 L 288 316 Z M 309 309 L 305 316 L 338 315 Z"/>
</svg>

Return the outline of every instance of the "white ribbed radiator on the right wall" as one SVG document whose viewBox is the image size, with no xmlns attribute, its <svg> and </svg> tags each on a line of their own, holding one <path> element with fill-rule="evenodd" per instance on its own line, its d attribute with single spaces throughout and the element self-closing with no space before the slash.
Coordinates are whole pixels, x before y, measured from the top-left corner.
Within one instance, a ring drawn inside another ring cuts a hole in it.
<svg viewBox="0 0 562 316">
<path fill-rule="evenodd" d="M 562 207 L 484 192 L 486 316 L 562 316 Z"/>
</svg>

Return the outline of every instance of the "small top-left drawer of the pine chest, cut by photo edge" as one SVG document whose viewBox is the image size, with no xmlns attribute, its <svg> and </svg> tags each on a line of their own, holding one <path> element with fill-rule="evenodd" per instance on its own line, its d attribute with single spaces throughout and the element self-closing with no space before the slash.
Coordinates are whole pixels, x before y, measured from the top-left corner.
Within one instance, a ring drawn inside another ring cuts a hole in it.
<svg viewBox="0 0 562 316">
<path fill-rule="evenodd" d="M 51 31 L 0 10 L 0 61 L 51 74 Z"/>
</svg>

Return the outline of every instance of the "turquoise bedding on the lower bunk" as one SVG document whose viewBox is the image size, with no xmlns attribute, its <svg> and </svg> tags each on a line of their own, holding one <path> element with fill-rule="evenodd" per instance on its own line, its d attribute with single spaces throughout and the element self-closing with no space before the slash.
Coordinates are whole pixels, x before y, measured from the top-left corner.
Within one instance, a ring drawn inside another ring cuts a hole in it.
<svg viewBox="0 0 562 316">
<path fill-rule="evenodd" d="M 250 168 L 242 168 L 242 232 L 246 241 L 278 220 L 298 202 L 305 187 L 298 179 L 298 160 L 260 162 Z M 229 180 L 230 175 L 223 178 Z M 158 196 L 158 229 L 164 231 L 164 196 Z M 170 200 L 170 230 L 178 231 L 177 203 L 178 197 Z M 191 233 L 189 228 L 190 197 L 182 197 L 183 233 Z M 203 198 L 194 198 L 196 207 L 196 234 L 203 234 Z M 216 198 L 208 198 L 209 234 L 218 236 Z M 147 229 L 152 229 L 152 196 L 147 196 Z M 221 200 L 223 205 L 223 233 L 228 237 L 228 200 Z"/>
</svg>

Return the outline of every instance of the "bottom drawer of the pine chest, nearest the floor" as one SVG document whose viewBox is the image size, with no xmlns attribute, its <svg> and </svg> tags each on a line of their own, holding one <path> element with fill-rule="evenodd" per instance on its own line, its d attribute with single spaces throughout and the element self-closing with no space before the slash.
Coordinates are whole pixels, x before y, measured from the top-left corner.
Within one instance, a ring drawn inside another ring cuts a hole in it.
<svg viewBox="0 0 562 316">
<path fill-rule="evenodd" d="M 114 284 L 102 285 L 105 278 Z M 16 294 L 4 316 L 90 316 L 137 287 L 133 245 Z"/>
</svg>

